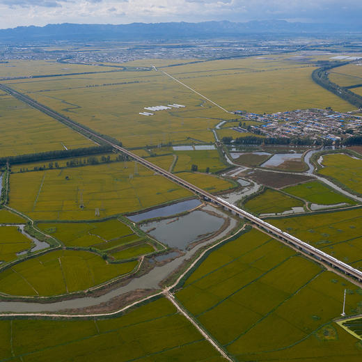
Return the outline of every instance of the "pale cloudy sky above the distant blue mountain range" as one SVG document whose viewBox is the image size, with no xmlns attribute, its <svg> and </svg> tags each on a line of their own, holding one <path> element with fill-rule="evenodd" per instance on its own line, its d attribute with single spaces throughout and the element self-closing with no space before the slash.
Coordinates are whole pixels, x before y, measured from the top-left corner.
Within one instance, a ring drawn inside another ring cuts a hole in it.
<svg viewBox="0 0 362 362">
<path fill-rule="evenodd" d="M 15 26 L 286 19 L 359 24 L 362 0 L 0 0 L 0 29 Z"/>
</svg>

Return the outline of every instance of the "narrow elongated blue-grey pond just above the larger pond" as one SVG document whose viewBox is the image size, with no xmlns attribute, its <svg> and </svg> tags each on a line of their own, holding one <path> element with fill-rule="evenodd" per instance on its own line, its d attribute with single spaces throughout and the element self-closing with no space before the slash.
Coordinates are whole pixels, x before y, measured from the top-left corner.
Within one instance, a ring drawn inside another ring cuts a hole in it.
<svg viewBox="0 0 362 362">
<path fill-rule="evenodd" d="M 194 198 L 192 200 L 180 201 L 180 203 L 174 203 L 172 205 L 157 207 L 157 209 L 141 212 L 140 214 L 132 215 L 127 218 L 134 223 L 138 223 L 139 221 L 155 219 L 156 217 L 171 217 L 172 215 L 180 214 L 181 212 L 194 209 L 200 205 L 200 200 Z"/>
</svg>

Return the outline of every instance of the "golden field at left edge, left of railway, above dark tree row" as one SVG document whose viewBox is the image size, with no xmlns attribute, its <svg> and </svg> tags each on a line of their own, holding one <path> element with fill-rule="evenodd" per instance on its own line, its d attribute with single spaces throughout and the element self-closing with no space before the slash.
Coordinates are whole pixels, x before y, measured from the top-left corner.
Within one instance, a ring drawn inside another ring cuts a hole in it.
<svg viewBox="0 0 362 362">
<path fill-rule="evenodd" d="M 0 157 L 95 145 L 11 95 L 0 97 Z"/>
</svg>

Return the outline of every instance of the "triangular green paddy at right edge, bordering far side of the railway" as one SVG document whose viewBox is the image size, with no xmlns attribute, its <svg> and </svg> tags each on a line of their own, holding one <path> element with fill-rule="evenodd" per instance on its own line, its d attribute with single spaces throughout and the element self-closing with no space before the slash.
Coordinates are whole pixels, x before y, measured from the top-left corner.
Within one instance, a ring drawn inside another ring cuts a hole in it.
<svg viewBox="0 0 362 362">
<path fill-rule="evenodd" d="M 325 253 L 362 267 L 362 210 L 325 212 L 323 214 L 270 219 L 268 222 L 299 237 Z"/>
</svg>

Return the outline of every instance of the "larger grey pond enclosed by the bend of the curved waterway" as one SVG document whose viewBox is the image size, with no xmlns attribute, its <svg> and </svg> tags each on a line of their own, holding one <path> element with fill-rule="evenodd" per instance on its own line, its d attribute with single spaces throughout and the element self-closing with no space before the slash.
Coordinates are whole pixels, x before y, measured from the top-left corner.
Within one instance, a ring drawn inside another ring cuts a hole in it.
<svg viewBox="0 0 362 362">
<path fill-rule="evenodd" d="M 144 223 L 140 228 L 171 248 L 186 250 L 191 242 L 212 235 L 223 226 L 223 223 L 222 217 L 196 210 L 175 219 Z"/>
</svg>

